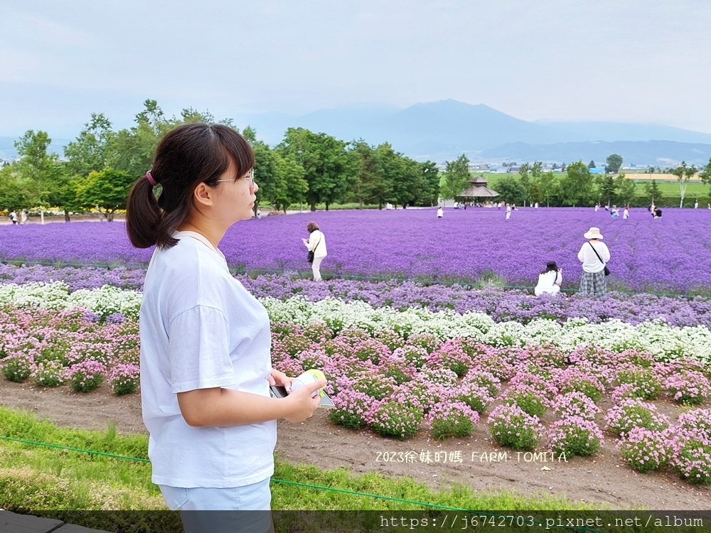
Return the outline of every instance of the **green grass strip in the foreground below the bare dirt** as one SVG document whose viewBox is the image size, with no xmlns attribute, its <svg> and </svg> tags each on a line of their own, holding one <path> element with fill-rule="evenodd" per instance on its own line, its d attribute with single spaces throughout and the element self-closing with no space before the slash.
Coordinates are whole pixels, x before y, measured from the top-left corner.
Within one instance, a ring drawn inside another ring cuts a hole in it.
<svg viewBox="0 0 711 533">
<path fill-rule="evenodd" d="M 0 436 L 136 458 L 146 458 L 147 450 L 144 434 L 120 435 L 112 427 L 105 431 L 58 428 L 39 421 L 31 412 L 6 407 L 0 407 Z M 165 509 L 146 462 L 1 439 L 0 465 L 0 508 L 5 510 Z M 353 475 L 343 468 L 321 470 L 278 458 L 276 461 L 274 510 L 427 509 L 417 502 L 471 510 L 589 509 L 565 497 L 474 492 L 464 486 L 435 492 L 410 478 L 390 479 L 378 473 Z"/>
</svg>

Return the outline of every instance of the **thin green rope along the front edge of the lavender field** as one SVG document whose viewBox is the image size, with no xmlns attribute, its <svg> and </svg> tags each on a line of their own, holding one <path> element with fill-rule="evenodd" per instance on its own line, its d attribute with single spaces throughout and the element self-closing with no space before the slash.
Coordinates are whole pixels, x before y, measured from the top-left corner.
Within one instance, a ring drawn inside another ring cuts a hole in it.
<svg viewBox="0 0 711 533">
<path fill-rule="evenodd" d="M 53 262 L 53 261 L 42 261 L 42 260 L 23 260 L 23 259 L 1 259 L 0 263 L 3 264 L 13 264 L 13 265 L 27 265 L 27 264 L 38 264 L 41 266 L 55 266 L 57 268 L 63 268 L 65 266 L 71 266 L 73 268 L 95 268 L 95 269 L 106 269 L 106 270 L 111 270 L 115 268 L 126 268 L 127 270 L 131 269 L 145 269 L 146 266 L 124 266 L 124 265 L 117 265 L 117 264 L 101 264 L 101 263 L 65 263 L 65 262 Z M 299 274 L 300 277 L 306 279 L 306 276 L 311 274 L 310 270 L 294 270 L 294 271 L 285 271 L 285 270 L 270 270 L 270 269 L 242 269 L 242 268 L 231 268 L 230 269 L 231 274 L 242 274 L 245 276 L 250 276 L 250 275 L 262 275 L 262 274 L 273 274 L 277 276 L 284 276 L 284 275 L 290 275 L 290 274 Z M 531 286 L 530 285 L 508 285 L 508 284 L 487 284 L 486 280 L 484 281 L 444 281 L 444 280 L 435 280 L 435 279 L 418 279 L 418 278 L 402 278 L 402 277 L 393 277 L 393 276 L 361 276 L 358 274 L 328 274 L 325 273 L 326 277 L 324 278 L 326 281 L 328 279 L 343 279 L 343 280 L 355 280 L 355 281 L 397 281 L 398 283 L 415 283 L 415 284 L 423 284 L 423 285 L 443 285 L 443 286 L 453 286 L 453 285 L 459 285 L 459 286 L 465 286 L 469 287 L 470 289 L 483 289 L 486 286 L 490 287 L 496 287 L 499 289 L 507 289 L 507 290 L 512 290 L 512 289 L 518 289 L 520 291 L 530 291 Z M 579 292 L 579 289 L 560 289 L 561 292 L 567 293 L 567 294 L 576 294 Z M 619 294 L 625 294 L 627 296 L 634 296 L 635 294 L 650 294 L 651 296 L 663 296 L 667 298 L 686 298 L 688 300 L 697 298 L 698 296 L 701 296 L 702 298 L 710 298 L 710 296 L 703 296 L 700 294 L 687 294 L 687 293 L 664 293 L 664 292 L 636 292 L 636 291 L 615 291 Z"/>
</svg>

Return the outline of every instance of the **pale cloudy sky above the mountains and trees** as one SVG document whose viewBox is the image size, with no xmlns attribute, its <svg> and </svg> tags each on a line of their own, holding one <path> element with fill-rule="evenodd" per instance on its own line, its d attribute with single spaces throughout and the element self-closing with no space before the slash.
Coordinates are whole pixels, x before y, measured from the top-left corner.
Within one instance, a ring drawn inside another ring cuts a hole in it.
<svg viewBox="0 0 711 533">
<path fill-rule="evenodd" d="M 711 133 L 707 0 L 0 0 L 0 136 L 456 99 Z"/>
</svg>

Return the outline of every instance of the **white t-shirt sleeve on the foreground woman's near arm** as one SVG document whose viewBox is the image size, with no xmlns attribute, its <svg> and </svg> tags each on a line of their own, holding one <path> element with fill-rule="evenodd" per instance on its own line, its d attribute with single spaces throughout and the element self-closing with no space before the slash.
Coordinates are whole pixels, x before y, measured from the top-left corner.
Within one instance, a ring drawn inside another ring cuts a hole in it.
<svg viewBox="0 0 711 533">
<path fill-rule="evenodd" d="M 228 321 L 222 311 L 208 306 L 183 311 L 171 321 L 168 335 L 171 392 L 235 382 Z"/>
</svg>

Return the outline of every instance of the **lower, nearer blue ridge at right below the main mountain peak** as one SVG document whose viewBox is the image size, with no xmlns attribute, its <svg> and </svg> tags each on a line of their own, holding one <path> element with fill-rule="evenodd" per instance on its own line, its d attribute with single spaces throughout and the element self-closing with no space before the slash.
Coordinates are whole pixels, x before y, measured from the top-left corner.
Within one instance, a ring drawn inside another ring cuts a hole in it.
<svg viewBox="0 0 711 533">
<path fill-rule="evenodd" d="M 620 154 L 625 164 L 673 165 L 679 161 L 705 165 L 711 158 L 711 144 L 680 143 L 674 141 L 615 141 L 575 142 L 556 144 L 512 143 L 481 151 L 484 160 L 511 158 L 523 161 L 572 161 L 582 160 L 604 163 L 610 154 Z"/>
</svg>

